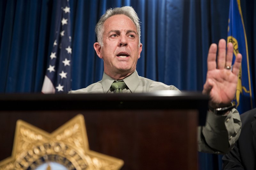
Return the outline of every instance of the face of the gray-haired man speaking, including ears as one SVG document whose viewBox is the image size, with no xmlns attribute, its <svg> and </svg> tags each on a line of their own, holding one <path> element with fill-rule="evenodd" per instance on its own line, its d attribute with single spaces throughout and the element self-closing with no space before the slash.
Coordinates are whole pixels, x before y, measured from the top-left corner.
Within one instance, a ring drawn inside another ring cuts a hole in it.
<svg viewBox="0 0 256 170">
<path fill-rule="evenodd" d="M 104 23 L 103 47 L 95 44 L 97 55 L 104 61 L 104 71 L 110 77 L 129 75 L 136 69 L 142 44 L 139 45 L 136 26 L 129 17 L 109 17 Z"/>
</svg>

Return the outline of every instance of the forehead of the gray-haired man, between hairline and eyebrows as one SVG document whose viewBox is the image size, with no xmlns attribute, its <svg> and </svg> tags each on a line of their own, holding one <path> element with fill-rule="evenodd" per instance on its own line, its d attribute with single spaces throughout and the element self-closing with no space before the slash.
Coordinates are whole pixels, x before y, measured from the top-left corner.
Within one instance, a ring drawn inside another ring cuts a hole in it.
<svg viewBox="0 0 256 170">
<path fill-rule="evenodd" d="M 132 19 L 126 15 L 113 15 L 104 22 L 104 32 L 110 30 L 133 30 L 137 33 L 136 26 Z"/>
</svg>

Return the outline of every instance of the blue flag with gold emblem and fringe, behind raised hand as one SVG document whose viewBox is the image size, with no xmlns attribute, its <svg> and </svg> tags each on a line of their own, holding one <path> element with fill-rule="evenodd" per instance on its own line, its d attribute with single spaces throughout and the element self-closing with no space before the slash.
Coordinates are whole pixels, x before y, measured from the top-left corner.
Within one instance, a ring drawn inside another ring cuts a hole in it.
<svg viewBox="0 0 256 170">
<path fill-rule="evenodd" d="M 233 43 L 233 62 L 238 53 L 241 53 L 243 56 L 238 75 L 236 96 L 233 100 L 237 110 L 242 114 L 254 107 L 254 98 L 247 39 L 240 0 L 230 0 L 227 42 Z"/>
</svg>

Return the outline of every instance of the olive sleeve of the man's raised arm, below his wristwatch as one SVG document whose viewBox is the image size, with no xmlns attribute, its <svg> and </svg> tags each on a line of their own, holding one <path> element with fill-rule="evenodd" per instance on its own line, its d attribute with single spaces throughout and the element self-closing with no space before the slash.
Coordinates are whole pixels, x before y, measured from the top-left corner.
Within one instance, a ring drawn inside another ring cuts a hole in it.
<svg viewBox="0 0 256 170">
<path fill-rule="evenodd" d="M 208 111 L 205 126 L 198 127 L 198 151 L 215 154 L 227 153 L 238 140 L 241 125 L 239 112 L 235 108 L 225 115 L 215 115 Z"/>
</svg>

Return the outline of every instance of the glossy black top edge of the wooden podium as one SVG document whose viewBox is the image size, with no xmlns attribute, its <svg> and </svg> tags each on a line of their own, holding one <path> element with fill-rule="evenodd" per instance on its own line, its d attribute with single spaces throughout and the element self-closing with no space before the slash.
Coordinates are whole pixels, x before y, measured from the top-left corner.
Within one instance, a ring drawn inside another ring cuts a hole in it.
<svg viewBox="0 0 256 170">
<path fill-rule="evenodd" d="M 122 94 L 42 94 L 42 93 L 0 93 L 0 101 L 26 100 L 209 100 L 208 95 L 201 92 L 163 90 L 149 93 Z"/>
</svg>

